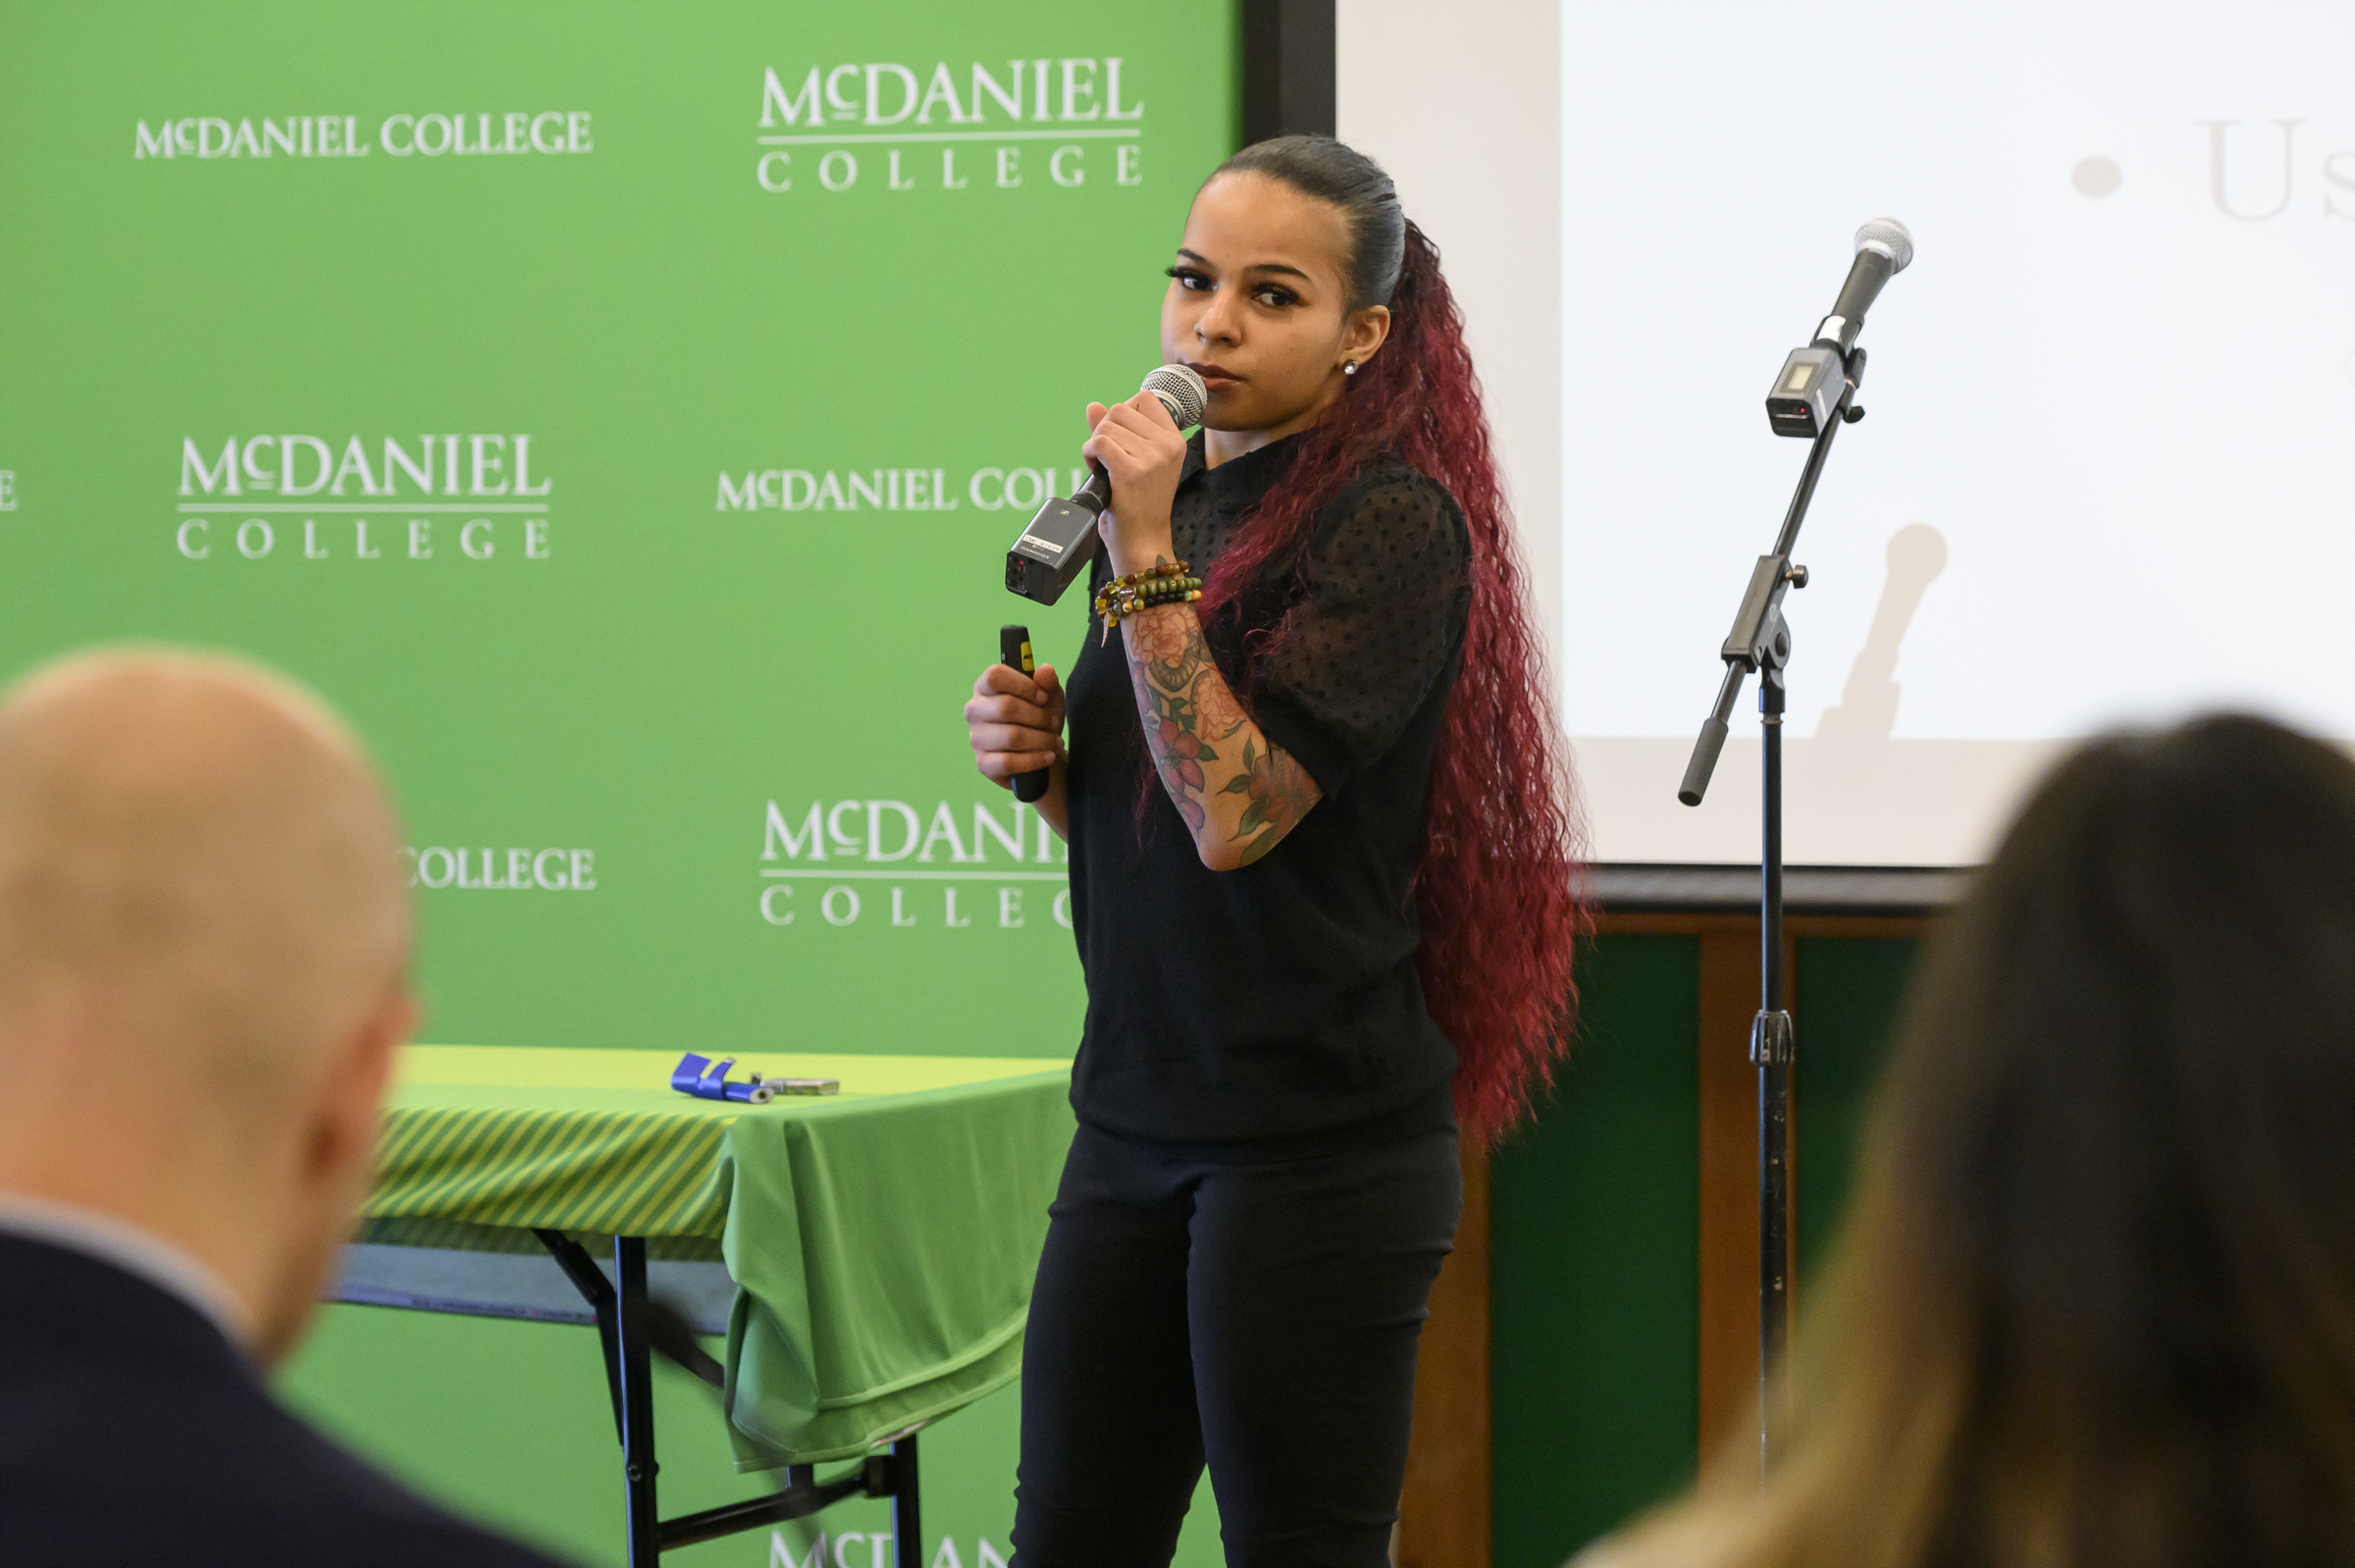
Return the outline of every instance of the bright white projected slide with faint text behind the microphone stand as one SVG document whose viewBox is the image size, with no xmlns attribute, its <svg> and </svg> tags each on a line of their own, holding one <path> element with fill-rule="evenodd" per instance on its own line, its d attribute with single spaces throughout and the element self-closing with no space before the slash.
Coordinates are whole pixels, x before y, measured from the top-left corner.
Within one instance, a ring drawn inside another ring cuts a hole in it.
<svg viewBox="0 0 2355 1568">
<path fill-rule="evenodd" d="M 1674 791 L 1806 443 L 1783 356 L 1917 257 L 1799 537 L 1787 855 L 1981 859 L 2072 737 L 2355 737 L 2355 5 L 1573 0 L 1561 697 L 1606 862 L 1757 857 L 1754 683 Z"/>
</svg>

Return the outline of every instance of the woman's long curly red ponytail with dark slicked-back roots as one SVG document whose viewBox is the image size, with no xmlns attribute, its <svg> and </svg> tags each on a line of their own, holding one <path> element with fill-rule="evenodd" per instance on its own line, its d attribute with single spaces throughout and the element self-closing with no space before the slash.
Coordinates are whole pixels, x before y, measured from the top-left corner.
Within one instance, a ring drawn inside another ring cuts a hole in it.
<svg viewBox="0 0 2355 1568">
<path fill-rule="evenodd" d="M 1300 436 L 1274 490 L 1203 582 L 1208 622 L 1267 572 L 1298 572 L 1319 513 L 1368 461 L 1394 452 L 1455 497 L 1472 532 L 1472 619 L 1432 756 L 1415 911 L 1415 968 L 1432 1019 L 1455 1043 L 1455 1109 L 1493 1142 L 1552 1083 L 1578 991 L 1573 946 L 1590 930 L 1578 873 L 1583 819 L 1547 695 L 1512 511 L 1495 471 L 1479 377 L 1439 252 L 1399 212 L 1389 177 L 1328 137 L 1279 137 L 1220 174 L 1265 174 L 1349 219 L 1352 308 L 1389 306 L 1389 339 L 1340 405 Z M 1218 174 L 1213 174 L 1215 179 Z M 1385 275 L 1394 283 L 1385 290 Z M 1283 626 L 1258 638 L 1243 702 Z"/>
</svg>

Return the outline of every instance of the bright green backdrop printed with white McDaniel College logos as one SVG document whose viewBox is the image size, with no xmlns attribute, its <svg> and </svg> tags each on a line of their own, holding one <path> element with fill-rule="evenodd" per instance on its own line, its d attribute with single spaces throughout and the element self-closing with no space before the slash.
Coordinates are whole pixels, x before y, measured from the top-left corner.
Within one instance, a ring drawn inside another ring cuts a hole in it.
<svg viewBox="0 0 2355 1568">
<path fill-rule="evenodd" d="M 1001 619 L 1076 647 L 1003 551 L 1159 358 L 1236 82 L 1220 5 L 14 5 L 0 666 L 233 647 L 341 706 L 429 1038 L 1069 1052 L 1062 848 L 958 706 Z M 297 1396 L 612 1559 L 610 1424 L 516 1417 L 525 1366 L 596 1406 L 584 1344 L 386 1316 Z M 1006 1554 L 996 1403 L 935 1443 L 961 1568 Z"/>
</svg>

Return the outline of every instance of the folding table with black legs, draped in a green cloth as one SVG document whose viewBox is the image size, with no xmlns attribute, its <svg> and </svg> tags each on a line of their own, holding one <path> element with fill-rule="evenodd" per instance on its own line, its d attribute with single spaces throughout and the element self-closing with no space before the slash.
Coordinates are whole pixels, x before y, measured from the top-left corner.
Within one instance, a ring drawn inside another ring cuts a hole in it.
<svg viewBox="0 0 2355 1568">
<path fill-rule="evenodd" d="M 631 1568 L 850 1495 L 893 1500 L 897 1568 L 921 1568 L 916 1431 L 1022 1368 L 1069 1064 L 758 1052 L 739 1069 L 841 1092 L 737 1104 L 674 1092 L 676 1062 L 410 1045 L 334 1300 L 596 1323 Z M 659 1516 L 657 1351 L 721 1391 L 737 1469 L 784 1469 L 782 1490 Z"/>
</svg>

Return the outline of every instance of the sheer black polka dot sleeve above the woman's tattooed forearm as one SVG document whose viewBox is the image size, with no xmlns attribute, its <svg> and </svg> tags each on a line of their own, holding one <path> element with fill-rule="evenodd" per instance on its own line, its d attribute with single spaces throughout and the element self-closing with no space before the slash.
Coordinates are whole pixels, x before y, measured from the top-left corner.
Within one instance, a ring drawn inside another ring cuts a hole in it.
<svg viewBox="0 0 2355 1568">
<path fill-rule="evenodd" d="M 1253 695 L 1253 718 L 1326 796 L 1389 751 L 1453 669 L 1472 603 L 1455 497 L 1375 461 L 1316 525 L 1302 600 Z"/>
</svg>

